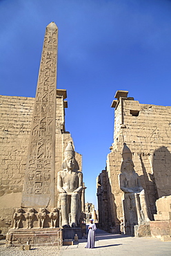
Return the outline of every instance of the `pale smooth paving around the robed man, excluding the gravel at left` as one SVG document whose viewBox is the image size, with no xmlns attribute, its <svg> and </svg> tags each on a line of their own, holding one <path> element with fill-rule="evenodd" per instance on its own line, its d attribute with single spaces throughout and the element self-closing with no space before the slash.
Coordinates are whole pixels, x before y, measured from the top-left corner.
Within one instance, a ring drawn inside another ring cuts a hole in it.
<svg viewBox="0 0 171 256">
<path fill-rule="evenodd" d="M 87 249 L 86 239 L 79 240 L 74 246 L 63 246 L 59 256 L 74 255 L 119 255 L 119 256 L 141 256 L 141 255 L 171 255 L 171 241 L 147 237 L 128 237 L 125 235 L 114 235 L 97 229 L 95 248 Z"/>
</svg>

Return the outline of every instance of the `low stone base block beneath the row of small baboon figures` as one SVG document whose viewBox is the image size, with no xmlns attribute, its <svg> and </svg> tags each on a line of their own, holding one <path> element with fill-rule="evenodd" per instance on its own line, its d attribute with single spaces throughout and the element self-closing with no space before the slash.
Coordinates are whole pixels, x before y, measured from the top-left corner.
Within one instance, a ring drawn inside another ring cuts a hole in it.
<svg viewBox="0 0 171 256">
<path fill-rule="evenodd" d="M 61 228 L 11 228 L 7 234 L 7 246 L 61 246 Z"/>
</svg>

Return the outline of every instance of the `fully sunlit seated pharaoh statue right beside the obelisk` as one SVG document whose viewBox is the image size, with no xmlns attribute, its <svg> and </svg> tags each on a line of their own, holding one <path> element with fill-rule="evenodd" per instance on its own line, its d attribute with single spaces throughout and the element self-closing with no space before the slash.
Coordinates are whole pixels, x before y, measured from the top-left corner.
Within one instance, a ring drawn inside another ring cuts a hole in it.
<svg viewBox="0 0 171 256">
<path fill-rule="evenodd" d="M 81 217 L 81 191 L 83 190 L 83 174 L 74 158 L 72 142 L 65 151 L 62 170 L 58 172 L 57 190 L 59 191 L 59 209 L 61 210 L 61 226 L 76 228 Z"/>
</svg>

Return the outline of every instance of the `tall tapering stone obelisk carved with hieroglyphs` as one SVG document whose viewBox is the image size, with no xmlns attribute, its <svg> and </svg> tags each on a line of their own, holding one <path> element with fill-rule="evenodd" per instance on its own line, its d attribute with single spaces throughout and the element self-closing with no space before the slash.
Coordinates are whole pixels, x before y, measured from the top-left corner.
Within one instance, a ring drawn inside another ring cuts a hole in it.
<svg viewBox="0 0 171 256">
<path fill-rule="evenodd" d="M 58 28 L 46 27 L 21 207 L 54 206 Z"/>
</svg>

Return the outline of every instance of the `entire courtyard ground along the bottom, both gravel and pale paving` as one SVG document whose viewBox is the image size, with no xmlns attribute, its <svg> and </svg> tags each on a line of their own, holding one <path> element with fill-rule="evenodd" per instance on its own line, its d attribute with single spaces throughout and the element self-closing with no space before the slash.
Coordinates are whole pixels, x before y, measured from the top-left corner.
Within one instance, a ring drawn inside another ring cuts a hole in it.
<svg viewBox="0 0 171 256">
<path fill-rule="evenodd" d="M 160 239 L 147 237 L 129 237 L 126 235 L 114 235 L 97 229 L 95 248 L 86 249 L 86 239 L 80 239 L 78 244 L 73 246 L 62 246 L 58 251 L 57 246 L 32 247 L 31 250 L 22 251 L 19 248 L 6 248 L 1 240 L 0 255 L 171 255 L 171 241 L 161 241 Z"/>
</svg>

